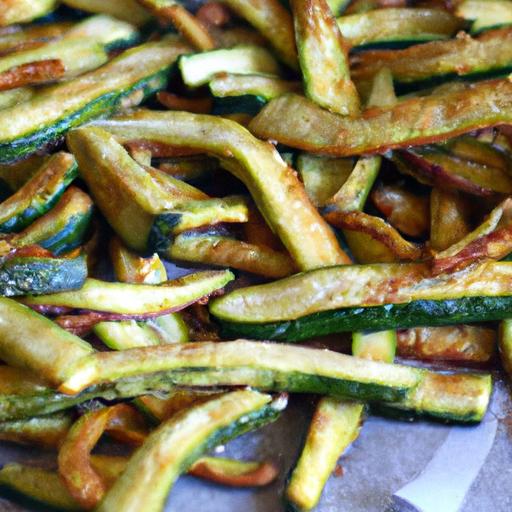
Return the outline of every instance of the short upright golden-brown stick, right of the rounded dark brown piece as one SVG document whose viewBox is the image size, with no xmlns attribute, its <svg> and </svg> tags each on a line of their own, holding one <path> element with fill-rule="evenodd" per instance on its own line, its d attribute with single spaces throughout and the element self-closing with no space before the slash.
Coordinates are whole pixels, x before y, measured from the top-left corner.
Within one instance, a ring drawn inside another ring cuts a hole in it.
<svg viewBox="0 0 512 512">
<path fill-rule="evenodd" d="M 430 247 L 444 251 L 471 231 L 470 205 L 458 192 L 433 188 L 430 194 Z"/>
</svg>

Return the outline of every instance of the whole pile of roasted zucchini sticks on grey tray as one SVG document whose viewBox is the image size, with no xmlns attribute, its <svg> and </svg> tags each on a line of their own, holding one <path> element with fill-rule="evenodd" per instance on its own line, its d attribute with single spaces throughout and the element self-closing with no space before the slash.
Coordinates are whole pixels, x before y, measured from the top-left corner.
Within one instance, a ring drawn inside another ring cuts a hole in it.
<svg viewBox="0 0 512 512">
<path fill-rule="evenodd" d="M 368 414 L 480 422 L 512 374 L 510 72 L 511 0 L 0 0 L 0 439 L 56 461 L 2 492 L 267 485 L 208 453 L 297 393 L 308 511 Z"/>
</svg>

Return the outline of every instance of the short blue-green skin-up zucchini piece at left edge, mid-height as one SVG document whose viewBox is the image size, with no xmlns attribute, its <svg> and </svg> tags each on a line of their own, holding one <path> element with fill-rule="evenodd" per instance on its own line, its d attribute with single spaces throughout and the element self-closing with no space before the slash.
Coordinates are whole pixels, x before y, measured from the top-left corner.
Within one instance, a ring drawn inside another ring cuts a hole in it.
<svg viewBox="0 0 512 512">
<path fill-rule="evenodd" d="M 80 288 L 87 277 L 85 256 L 14 257 L 0 267 L 0 295 L 41 295 Z"/>
</svg>

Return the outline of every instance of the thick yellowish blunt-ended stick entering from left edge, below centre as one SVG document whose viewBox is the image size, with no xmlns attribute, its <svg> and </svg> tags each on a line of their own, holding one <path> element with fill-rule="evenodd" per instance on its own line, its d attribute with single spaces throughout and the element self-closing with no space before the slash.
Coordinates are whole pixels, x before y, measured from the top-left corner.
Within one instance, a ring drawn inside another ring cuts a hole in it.
<svg viewBox="0 0 512 512">
<path fill-rule="evenodd" d="M 85 341 L 11 299 L 0 299 L 0 357 L 58 384 L 74 362 L 93 352 Z"/>
</svg>

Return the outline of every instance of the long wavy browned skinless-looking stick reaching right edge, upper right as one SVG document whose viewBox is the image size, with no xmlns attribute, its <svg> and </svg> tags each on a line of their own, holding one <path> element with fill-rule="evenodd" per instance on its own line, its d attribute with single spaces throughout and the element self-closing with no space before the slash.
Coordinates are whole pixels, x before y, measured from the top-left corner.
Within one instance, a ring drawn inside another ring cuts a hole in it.
<svg viewBox="0 0 512 512">
<path fill-rule="evenodd" d="M 509 80 L 478 82 L 456 91 L 410 98 L 356 119 L 286 94 L 268 103 L 249 129 L 263 139 L 311 152 L 338 156 L 375 153 L 510 123 L 511 93 Z"/>
</svg>

